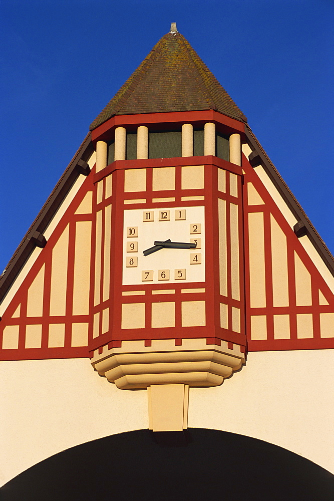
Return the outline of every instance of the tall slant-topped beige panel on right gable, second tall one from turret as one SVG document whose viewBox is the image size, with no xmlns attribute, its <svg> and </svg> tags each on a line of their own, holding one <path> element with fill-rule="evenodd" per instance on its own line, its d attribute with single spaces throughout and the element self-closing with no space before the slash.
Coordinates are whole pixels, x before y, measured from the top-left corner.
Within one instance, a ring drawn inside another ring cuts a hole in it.
<svg viewBox="0 0 334 501">
<path fill-rule="evenodd" d="M 289 305 L 286 236 L 270 215 L 273 306 Z"/>
</svg>

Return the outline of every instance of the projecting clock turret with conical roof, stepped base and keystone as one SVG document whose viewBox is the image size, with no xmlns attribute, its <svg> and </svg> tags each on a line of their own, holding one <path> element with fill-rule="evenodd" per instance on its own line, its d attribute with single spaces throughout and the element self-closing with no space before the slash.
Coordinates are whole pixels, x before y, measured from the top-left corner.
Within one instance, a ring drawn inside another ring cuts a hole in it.
<svg viewBox="0 0 334 501">
<path fill-rule="evenodd" d="M 91 126 L 91 362 L 148 389 L 154 431 L 245 360 L 245 121 L 172 24 Z"/>
</svg>

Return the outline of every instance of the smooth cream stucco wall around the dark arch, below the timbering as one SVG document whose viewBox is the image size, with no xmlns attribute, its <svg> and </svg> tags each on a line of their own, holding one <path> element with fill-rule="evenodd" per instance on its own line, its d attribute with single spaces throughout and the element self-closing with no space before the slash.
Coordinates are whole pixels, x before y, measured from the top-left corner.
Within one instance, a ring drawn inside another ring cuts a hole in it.
<svg viewBox="0 0 334 501">
<path fill-rule="evenodd" d="M 188 426 L 266 440 L 334 471 L 333 362 L 330 350 L 250 353 L 222 386 L 190 389 Z M 88 359 L 1 362 L 0 398 L 0 484 L 66 448 L 148 428 L 146 390 L 119 390 Z"/>
</svg>

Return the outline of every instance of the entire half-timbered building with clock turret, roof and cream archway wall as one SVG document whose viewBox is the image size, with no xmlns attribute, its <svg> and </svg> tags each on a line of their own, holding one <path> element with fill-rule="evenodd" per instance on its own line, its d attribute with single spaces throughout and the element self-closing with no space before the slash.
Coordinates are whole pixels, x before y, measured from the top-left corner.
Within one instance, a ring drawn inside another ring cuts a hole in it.
<svg viewBox="0 0 334 501">
<path fill-rule="evenodd" d="M 333 325 L 333 257 L 173 23 L 0 276 L 16 430 L 4 478 L 148 425 L 158 439 L 224 430 L 327 467 Z"/>
</svg>

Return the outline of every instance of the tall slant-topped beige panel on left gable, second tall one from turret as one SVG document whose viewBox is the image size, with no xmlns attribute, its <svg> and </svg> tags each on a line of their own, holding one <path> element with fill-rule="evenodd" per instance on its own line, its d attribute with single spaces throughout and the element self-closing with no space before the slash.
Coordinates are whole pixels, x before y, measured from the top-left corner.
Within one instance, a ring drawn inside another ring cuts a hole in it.
<svg viewBox="0 0 334 501">
<path fill-rule="evenodd" d="M 52 251 L 51 287 L 50 287 L 50 315 L 65 315 L 67 267 L 69 252 L 69 225 Z"/>
</svg>

